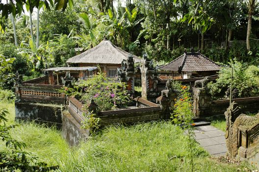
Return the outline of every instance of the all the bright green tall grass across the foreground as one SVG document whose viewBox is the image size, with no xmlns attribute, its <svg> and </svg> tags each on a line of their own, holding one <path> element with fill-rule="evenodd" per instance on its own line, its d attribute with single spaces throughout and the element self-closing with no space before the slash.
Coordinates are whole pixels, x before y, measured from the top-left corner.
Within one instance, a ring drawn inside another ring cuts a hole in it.
<svg viewBox="0 0 259 172">
<path fill-rule="evenodd" d="M 13 104 L 0 103 L 11 113 Z M 69 147 L 60 131 L 34 123 L 21 123 L 12 135 L 27 144 L 27 150 L 61 172 L 189 172 L 188 145 L 181 128 L 170 122 L 141 123 L 130 127 L 111 126 L 77 147 Z M 1 148 L 3 148 L 2 145 Z M 194 146 L 195 171 L 247 172 L 246 163 L 221 163 Z"/>
</svg>

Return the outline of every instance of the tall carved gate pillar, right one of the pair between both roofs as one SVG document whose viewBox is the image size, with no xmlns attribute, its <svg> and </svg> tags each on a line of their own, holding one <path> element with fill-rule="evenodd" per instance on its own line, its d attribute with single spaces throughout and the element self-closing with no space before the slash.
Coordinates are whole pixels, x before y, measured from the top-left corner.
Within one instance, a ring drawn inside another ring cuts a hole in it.
<svg viewBox="0 0 259 172">
<path fill-rule="evenodd" d="M 158 77 L 157 68 L 153 67 L 153 61 L 148 59 L 147 55 L 143 55 L 141 65 L 141 96 L 149 101 L 155 102 L 159 92 L 157 89 Z"/>
</svg>

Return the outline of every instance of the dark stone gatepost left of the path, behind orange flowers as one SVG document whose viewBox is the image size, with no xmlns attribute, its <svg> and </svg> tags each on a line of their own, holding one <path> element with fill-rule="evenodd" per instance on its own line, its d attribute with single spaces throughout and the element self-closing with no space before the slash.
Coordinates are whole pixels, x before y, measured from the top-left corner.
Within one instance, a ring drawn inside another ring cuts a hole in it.
<svg viewBox="0 0 259 172">
<path fill-rule="evenodd" d="M 156 103 L 159 103 L 164 112 L 164 118 L 169 119 L 175 105 L 177 91 L 164 89 L 161 91 L 161 96 L 156 98 Z"/>
</svg>

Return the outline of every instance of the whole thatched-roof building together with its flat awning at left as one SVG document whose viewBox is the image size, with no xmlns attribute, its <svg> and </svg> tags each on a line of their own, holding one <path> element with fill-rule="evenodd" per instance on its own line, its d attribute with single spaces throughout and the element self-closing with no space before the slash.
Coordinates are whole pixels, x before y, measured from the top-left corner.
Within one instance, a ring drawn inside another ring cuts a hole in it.
<svg viewBox="0 0 259 172">
<path fill-rule="evenodd" d="M 67 72 L 74 78 L 87 80 L 97 73 L 97 66 L 100 66 L 102 72 L 106 73 L 106 77 L 114 78 L 117 76 L 117 68 L 121 67 L 122 61 L 126 60 L 129 55 L 128 52 L 104 39 L 94 48 L 69 58 L 66 62 L 70 67 L 53 67 L 45 71 L 48 71 L 49 83 L 52 85 L 60 85 L 61 77 L 65 77 Z M 135 63 L 141 61 L 139 57 L 131 56 Z"/>
</svg>

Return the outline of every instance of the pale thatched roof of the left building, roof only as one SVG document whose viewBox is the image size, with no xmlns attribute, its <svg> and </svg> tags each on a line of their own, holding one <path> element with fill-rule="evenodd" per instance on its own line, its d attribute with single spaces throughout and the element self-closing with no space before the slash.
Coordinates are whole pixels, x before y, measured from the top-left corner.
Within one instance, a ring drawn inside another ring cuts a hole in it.
<svg viewBox="0 0 259 172">
<path fill-rule="evenodd" d="M 109 40 L 103 40 L 100 44 L 75 57 L 67 60 L 67 63 L 96 63 L 96 64 L 121 64 L 123 59 L 127 59 L 129 53 L 113 45 Z M 140 58 L 133 55 L 135 62 L 140 62 Z"/>
</svg>

